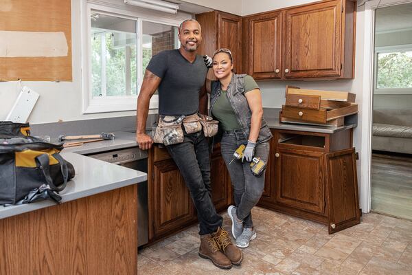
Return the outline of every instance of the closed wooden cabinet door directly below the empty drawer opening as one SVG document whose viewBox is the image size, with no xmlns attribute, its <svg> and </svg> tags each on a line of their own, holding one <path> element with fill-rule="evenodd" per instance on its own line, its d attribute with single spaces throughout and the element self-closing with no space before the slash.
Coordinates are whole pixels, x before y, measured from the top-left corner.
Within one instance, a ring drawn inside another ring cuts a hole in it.
<svg viewBox="0 0 412 275">
<path fill-rule="evenodd" d="M 323 214 L 323 153 L 277 148 L 276 202 Z"/>
</svg>

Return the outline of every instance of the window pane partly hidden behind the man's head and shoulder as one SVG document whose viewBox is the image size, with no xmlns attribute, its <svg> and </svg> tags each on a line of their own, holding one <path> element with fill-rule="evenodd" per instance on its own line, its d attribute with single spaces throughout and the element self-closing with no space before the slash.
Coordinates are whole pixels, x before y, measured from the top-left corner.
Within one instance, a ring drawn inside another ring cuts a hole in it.
<svg viewBox="0 0 412 275">
<path fill-rule="evenodd" d="M 173 50 L 180 47 L 177 38 L 177 27 L 143 21 L 143 70 L 146 71 L 150 58 L 164 50 Z M 157 91 L 156 93 L 157 94 Z"/>
</svg>

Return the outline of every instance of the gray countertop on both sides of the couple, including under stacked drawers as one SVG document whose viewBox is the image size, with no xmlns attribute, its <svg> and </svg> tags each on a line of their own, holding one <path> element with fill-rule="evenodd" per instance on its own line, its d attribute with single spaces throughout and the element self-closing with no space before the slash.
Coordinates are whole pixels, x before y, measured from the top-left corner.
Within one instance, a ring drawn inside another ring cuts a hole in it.
<svg viewBox="0 0 412 275">
<path fill-rule="evenodd" d="M 271 129 L 336 133 L 356 127 L 356 119 L 354 118 L 353 122 L 348 120 L 345 122 L 345 126 L 340 127 L 279 123 L 278 118 L 274 117 L 266 118 L 266 122 Z M 137 146 L 136 134 L 133 131 L 119 131 L 115 132 L 114 140 L 91 142 L 82 146 L 65 148 L 62 151 L 62 156 L 73 164 L 76 177 L 67 183 L 65 190 L 60 192 L 62 203 L 146 181 L 146 173 L 84 156 L 135 146 Z M 21 206 L 0 206 L 0 219 L 54 205 L 55 203 L 52 201 L 38 201 Z"/>
</svg>

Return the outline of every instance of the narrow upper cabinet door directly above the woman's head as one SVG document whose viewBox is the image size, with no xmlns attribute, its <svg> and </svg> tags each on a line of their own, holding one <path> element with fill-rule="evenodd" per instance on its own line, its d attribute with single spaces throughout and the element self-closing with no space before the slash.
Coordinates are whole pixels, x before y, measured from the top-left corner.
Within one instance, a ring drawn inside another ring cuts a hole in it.
<svg viewBox="0 0 412 275">
<path fill-rule="evenodd" d="M 218 12 L 218 48 L 222 47 L 231 50 L 233 69 L 240 74 L 242 72 L 242 17 Z"/>
</svg>

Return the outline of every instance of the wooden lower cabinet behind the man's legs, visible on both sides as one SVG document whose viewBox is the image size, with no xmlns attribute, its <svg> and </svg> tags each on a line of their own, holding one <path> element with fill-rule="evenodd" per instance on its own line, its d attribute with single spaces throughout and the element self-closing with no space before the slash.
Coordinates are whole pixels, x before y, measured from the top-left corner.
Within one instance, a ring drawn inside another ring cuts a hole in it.
<svg viewBox="0 0 412 275">
<path fill-rule="evenodd" d="M 196 223 L 196 208 L 168 151 L 153 146 L 148 157 L 149 244 Z M 211 155 L 211 199 L 216 210 L 231 203 L 231 184 L 220 148 Z"/>
</svg>

